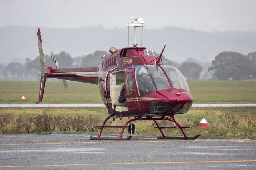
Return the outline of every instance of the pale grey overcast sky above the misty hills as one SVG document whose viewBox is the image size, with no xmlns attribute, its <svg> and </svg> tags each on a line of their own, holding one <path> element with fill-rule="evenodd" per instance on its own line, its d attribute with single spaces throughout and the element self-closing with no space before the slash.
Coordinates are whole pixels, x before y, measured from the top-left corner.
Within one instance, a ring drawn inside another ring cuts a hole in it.
<svg viewBox="0 0 256 170">
<path fill-rule="evenodd" d="M 256 31 L 255 9 L 256 0 L 0 0 L 0 27 L 124 28 L 135 16 L 147 28 Z"/>
</svg>

